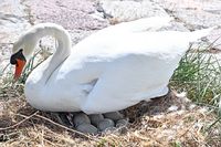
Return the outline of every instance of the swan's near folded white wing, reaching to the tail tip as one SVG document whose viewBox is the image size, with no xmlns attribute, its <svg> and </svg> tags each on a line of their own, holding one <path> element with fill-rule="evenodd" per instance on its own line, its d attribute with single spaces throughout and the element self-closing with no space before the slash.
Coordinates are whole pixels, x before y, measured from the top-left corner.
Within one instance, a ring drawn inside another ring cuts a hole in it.
<svg viewBox="0 0 221 147">
<path fill-rule="evenodd" d="M 127 38 L 129 44 L 113 43 L 107 56 L 116 60 L 108 63 L 98 76 L 81 109 L 87 114 L 119 111 L 167 94 L 169 80 L 190 41 L 207 35 L 211 30 L 139 33 Z"/>
</svg>

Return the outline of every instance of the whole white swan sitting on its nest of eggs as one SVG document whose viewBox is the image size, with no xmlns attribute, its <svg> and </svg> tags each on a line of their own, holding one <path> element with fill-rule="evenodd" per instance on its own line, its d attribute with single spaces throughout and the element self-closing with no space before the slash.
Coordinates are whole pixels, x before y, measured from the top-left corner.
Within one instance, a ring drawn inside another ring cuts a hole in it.
<svg viewBox="0 0 221 147">
<path fill-rule="evenodd" d="M 133 106 L 168 93 L 168 83 L 189 43 L 212 29 L 194 32 L 150 31 L 170 18 L 145 18 L 110 25 L 72 48 L 69 32 L 40 23 L 13 44 L 11 64 L 19 78 L 39 40 L 57 41 L 53 55 L 29 75 L 24 94 L 34 108 L 46 112 L 101 114 Z"/>
</svg>

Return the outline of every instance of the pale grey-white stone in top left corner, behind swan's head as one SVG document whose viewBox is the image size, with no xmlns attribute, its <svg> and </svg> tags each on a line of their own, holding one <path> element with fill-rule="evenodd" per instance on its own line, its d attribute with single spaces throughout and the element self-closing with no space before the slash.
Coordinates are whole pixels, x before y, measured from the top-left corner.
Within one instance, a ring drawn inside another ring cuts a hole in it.
<svg viewBox="0 0 221 147">
<path fill-rule="evenodd" d="M 30 27 L 25 7 L 19 0 L 0 1 L 0 43 L 12 43 Z"/>
</svg>

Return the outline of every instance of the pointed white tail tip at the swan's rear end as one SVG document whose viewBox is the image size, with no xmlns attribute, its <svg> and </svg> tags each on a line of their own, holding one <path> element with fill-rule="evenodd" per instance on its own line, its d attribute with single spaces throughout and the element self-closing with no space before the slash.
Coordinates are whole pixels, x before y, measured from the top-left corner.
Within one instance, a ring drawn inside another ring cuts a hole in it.
<svg viewBox="0 0 221 147">
<path fill-rule="evenodd" d="M 204 38 L 207 35 L 209 35 L 209 33 L 214 30 L 215 27 L 212 27 L 212 28 L 208 28 L 208 29 L 202 29 L 202 30 L 198 30 L 198 31 L 193 31 L 190 33 L 190 36 L 189 36 L 189 41 L 190 42 L 194 42 L 194 41 L 198 41 L 199 39 L 201 38 Z"/>
</svg>

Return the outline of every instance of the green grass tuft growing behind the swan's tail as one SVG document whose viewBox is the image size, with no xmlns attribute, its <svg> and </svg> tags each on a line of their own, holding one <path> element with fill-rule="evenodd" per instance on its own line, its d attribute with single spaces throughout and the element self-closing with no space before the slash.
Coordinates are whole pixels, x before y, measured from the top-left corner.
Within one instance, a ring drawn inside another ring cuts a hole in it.
<svg viewBox="0 0 221 147">
<path fill-rule="evenodd" d="M 208 49 L 188 50 L 175 71 L 170 86 L 186 91 L 188 98 L 197 104 L 214 109 L 218 119 L 208 127 L 211 128 L 221 118 L 221 59 L 209 53 Z"/>
</svg>

